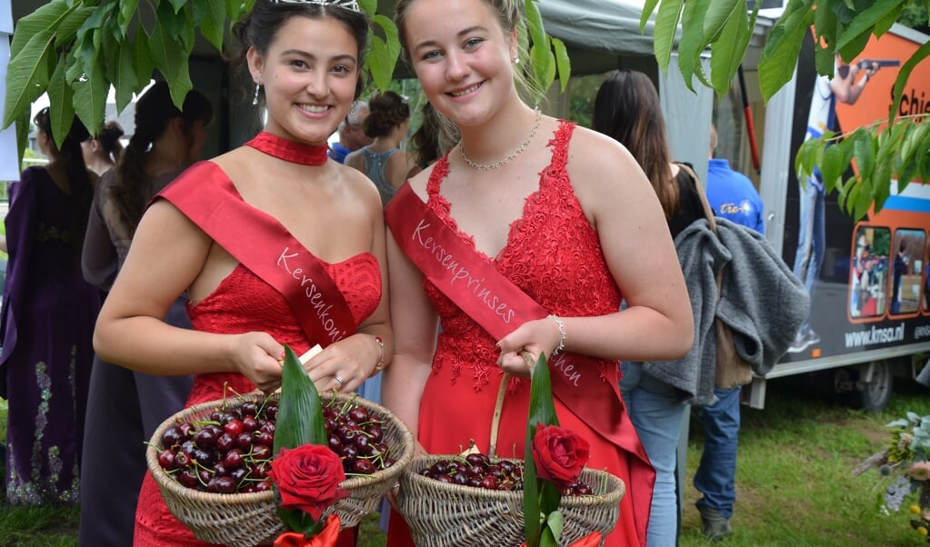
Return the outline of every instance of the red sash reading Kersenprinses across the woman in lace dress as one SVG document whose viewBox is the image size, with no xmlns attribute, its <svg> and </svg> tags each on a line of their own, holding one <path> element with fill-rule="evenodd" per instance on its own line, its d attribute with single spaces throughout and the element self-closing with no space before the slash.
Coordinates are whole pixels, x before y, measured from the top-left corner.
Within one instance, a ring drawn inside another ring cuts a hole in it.
<svg viewBox="0 0 930 547">
<path fill-rule="evenodd" d="M 397 245 L 430 282 L 495 340 L 549 313 L 494 265 L 478 255 L 404 184 L 385 209 Z M 637 535 L 645 542 L 655 471 L 620 397 L 617 374 L 606 380 L 598 359 L 559 354 L 550 362 L 552 394 L 628 454 Z"/>
</svg>

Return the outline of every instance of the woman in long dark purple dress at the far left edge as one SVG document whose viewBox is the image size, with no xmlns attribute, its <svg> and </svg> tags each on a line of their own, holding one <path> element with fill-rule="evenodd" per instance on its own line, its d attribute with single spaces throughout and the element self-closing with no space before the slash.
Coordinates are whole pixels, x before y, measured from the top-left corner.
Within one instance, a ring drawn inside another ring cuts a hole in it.
<svg viewBox="0 0 930 547">
<path fill-rule="evenodd" d="M 7 398 L 7 500 L 76 503 L 91 335 L 100 291 L 81 274 L 93 175 L 74 118 L 60 149 L 48 109 L 36 114 L 48 157 L 10 186 L 7 283 L 0 314 L 0 396 Z"/>
</svg>

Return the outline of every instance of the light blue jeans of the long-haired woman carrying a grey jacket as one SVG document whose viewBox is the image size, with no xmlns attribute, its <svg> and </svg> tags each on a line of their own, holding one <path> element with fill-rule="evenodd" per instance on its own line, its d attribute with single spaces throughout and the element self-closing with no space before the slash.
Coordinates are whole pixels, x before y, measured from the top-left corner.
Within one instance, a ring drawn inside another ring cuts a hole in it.
<svg viewBox="0 0 930 547">
<path fill-rule="evenodd" d="M 656 469 L 646 544 L 674 547 L 678 542 L 676 448 L 688 407 L 671 385 L 644 373 L 638 363 L 623 364 L 620 391 L 633 427 Z"/>
</svg>

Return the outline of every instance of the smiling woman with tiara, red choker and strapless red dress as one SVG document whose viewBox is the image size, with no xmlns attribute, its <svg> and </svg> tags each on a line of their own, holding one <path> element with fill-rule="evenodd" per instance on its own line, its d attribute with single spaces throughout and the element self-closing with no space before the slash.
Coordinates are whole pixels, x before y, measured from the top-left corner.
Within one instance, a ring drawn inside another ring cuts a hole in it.
<svg viewBox="0 0 930 547">
<path fill-rule="evenodd" d="M 297 354 L 324 347 L 304 365 L 320 390 L 351 392 L 387 364 L 379 193 L 360 172 L 327 161 L 326 146 L 361 91 L 367 32 L 365 14 L 345 0 L 259 0 L 236 25 L 253 102 L 263 96 L 267 105 L 264 130 L 156 196 L 100 312 L 94 341 L 103 359 L 194 374 L 189 406 L 219 399 L 224 386 L 276 389 L 284 344 Z M 300 275 L 312 278 L 326 316 Z M 193 330 L 162 320 L 185 291 Z M 355 536 L 343 530 L 339 545 Z M 203 544 L 168 512 L 151 474 L 134 544 Z"/>
</svg>

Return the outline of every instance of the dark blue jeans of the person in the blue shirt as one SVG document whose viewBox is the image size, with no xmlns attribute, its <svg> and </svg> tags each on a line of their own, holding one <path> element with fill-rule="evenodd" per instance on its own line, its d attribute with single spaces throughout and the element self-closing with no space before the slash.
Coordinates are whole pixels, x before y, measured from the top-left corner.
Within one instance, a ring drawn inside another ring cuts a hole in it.
<svg viewBox="0 0 930 547">
<path fill-rule="evenodd" d="M 704 453 L 697 465 L 694 485 L 704 497 L 697 506 L 704 506 L 733 516 L 737 499 L 737 442 L 739 436 L 739 387 L 714 388 L 719 399 L 710 407 L 700 408 L 704 424 Z"/>
</svg>

